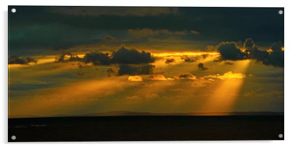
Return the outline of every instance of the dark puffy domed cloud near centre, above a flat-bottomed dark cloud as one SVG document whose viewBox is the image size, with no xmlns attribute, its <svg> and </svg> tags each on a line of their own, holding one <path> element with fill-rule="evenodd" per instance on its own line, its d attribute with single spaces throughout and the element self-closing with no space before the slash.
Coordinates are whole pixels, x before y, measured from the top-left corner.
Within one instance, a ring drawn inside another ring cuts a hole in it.
<svg viewBox="0 0 296 148">
<path fill-rule="evenodd" d="M 136 49 L 126 49 L 121 47 L 118 51 L 112 53 L 112 63 L 120 64 L 141 64 L 141 63 L 153 63 L 155 58 L 149 52 L 139 52 Z"/>
</svg>

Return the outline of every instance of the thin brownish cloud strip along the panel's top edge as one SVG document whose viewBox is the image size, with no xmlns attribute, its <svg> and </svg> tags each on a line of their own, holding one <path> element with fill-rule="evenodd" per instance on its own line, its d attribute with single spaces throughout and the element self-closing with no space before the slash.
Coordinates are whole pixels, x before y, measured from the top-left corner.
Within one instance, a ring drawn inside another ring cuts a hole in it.
<svg viewBox="0 0 296 148">
<path fill-rule="evenodd" d="M 159 16 L 178 14 L 177 7 L 50 7 L 53 13 L 74 16 Z"/>
</svg>

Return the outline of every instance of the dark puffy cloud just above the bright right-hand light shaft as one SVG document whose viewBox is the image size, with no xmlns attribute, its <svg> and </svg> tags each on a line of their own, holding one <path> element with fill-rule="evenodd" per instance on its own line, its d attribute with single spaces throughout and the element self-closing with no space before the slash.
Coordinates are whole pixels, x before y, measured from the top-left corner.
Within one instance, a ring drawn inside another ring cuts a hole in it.
<svg viewBox="0 0 296 148">
<path fill-rule="evenodd" d="M 243 60 L 246 54 L 237 48 L 236 42 L 221 42 L 217 50 L 221 55 L 221 60 Z"/>
</svg>

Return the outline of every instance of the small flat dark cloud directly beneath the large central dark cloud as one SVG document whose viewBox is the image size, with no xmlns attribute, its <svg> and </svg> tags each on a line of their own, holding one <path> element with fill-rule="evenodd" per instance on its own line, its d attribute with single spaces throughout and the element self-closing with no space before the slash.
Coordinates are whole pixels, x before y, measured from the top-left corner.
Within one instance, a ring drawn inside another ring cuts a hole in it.
<svg viewBox="0 0 296 148">
<path fill-rule="evenodd" d="M 154 65 L 144 64 L 144 65 L 128 65 L 120 64 L 118 75 L 149 75 L 153 73 Z"/>
</svg>

